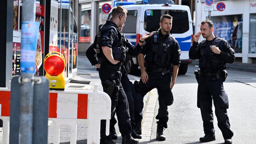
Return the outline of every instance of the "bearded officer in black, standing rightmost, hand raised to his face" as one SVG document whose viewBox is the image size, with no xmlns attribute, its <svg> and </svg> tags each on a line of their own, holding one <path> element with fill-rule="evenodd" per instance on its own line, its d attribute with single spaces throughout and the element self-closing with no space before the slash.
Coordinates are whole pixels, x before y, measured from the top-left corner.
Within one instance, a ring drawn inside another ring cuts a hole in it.
<svg viewBox="0 0 256 144">
<path fill-rule="evenodd" d="M 224 90 L 223 82 L 227 77 L 226 63 L 235 61 L 235 52 L 225 39 L 214 36 L 211 20 L 202 21 L 200 30 L 201 32 L 194 35 L 195 41 L 189 50 L 190 59 L 199 59 L 200 69 L 195 71 L 198 81 L 197 107 L 201 110 L 205 134 L 199 140 L 203 142 L 215 140 L 213 100 L 218 126 L 225 144 L 230 144 L 233 132 L 230 130 L 227 115 L 228 95 Z M 205 40 L 198 42 L 201 35 Z"/>
</svg>

